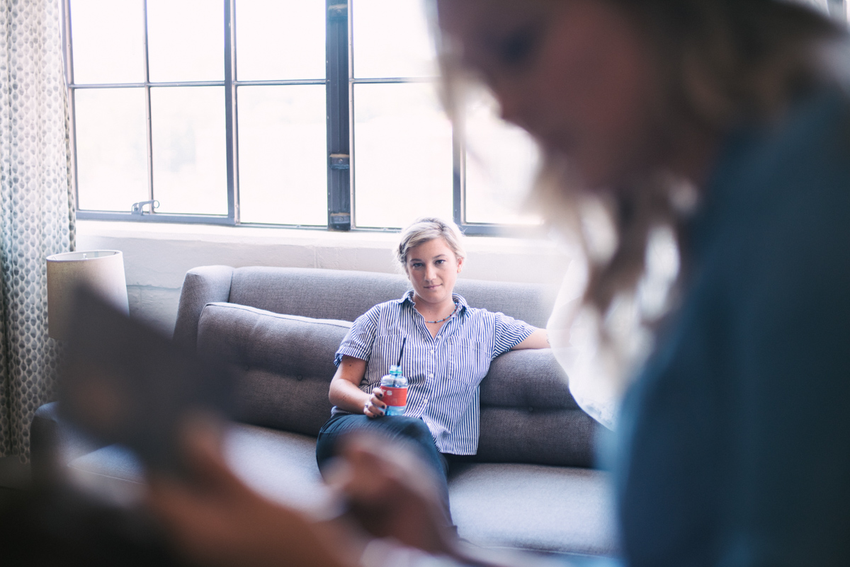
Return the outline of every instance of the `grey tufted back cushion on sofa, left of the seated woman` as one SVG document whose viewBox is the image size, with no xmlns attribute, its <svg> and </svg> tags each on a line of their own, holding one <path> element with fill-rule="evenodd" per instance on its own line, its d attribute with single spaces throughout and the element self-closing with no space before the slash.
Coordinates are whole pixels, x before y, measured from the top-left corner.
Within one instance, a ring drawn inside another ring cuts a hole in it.
<svg viewBox="0 0 850 567">
<path fill-rule="evenodd" d="M 235 418 L 318 435 L 331 417 L 333 355 L 351 323 L 211 303 L 198 323 L 198 353 L 240 370 Z"/>
</svg>

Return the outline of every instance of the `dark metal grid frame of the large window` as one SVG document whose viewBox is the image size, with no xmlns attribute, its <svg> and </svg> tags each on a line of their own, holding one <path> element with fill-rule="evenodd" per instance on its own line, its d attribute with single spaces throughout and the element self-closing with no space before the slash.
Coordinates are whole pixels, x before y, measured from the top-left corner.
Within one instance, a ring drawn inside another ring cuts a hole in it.
<svg viewBox="0 0 850 567">
<path fill-rule="evenodd" d="M 305 228 L 314 230 L 362 231 L 362 232 L 398 232 L 399 228 L 355 227 L 353 226 L 353 188 L 350 177 L 351 114 L 354 85 L 379 82 L 433 81 L 434 79 L 382 78 L 359 79 L 354 77 L 351 53 L 352 27 L 348 14 L 353 0 L 344 3 L 326 0 L 326 76 L 315 80 L 285 81 L 236 81 L 235 48 L 235 3 L 236 0 L 222 0 L 224 4 L 224 81 L 170 81 L 151 82 L 148 53 L 147 0 L 144 6 L 144 81 L 140 83 L 87 83 L 77 85 L 73 76 L 73 42 L 71 38 L 71 0 L 63 0 L 63 45 L 65 46 L 65 82 L 68 89 L 71 119 L 71 177 L 75 196 L 78 197 L 77 152 L 76 152 L 76 104 L 77 90 L 91 88 L 144 88 L 146 136 L 147 136 L 147 186 L 148 199 L 156 199 L 154 192 L 154 172 L 152 160 L 150 89 L 151 87 L 224 87 L 225 136 L 227 159 L 227 215 L 207 215 L 189 213 L 162 213 L 153 207 L 142 207 L 139 212 L 77 210 L 77 219 L 132 222 L 178 222 L 245 227 Z M 242 86 L 275 85 L 317 85 L 326 87 L 326 139 L 327 139 L 327 224 L 270 224 L 241 222 L 239 212 L 239 171 L 238 171 L 238 132 L 237 132 L 237 88 Z M 536 237 L 541 235 L 541 227 L 523 225 L 505 225 L 497 223 L 466 222 L 465 150 L 458 135 L 458 129 L 452 128 L 452 217 L 464 233 L 474 235 L 501 235 L 518 237 Z M 76 199 L 79 202 L 79 199 Z M 128 206 L 131 204 L 127 204 Z"/>
</svg>

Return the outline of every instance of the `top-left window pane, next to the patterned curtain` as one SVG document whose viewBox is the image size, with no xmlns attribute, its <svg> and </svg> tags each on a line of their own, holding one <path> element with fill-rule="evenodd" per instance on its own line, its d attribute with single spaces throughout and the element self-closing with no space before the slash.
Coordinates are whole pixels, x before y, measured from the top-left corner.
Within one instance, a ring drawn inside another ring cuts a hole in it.
<svg viewBox="0 0 850 567">
<path fill-rule="evenodd" d="M 74 82 L 144 81 L 141 0 L 71 0 Z"/>
</svg>

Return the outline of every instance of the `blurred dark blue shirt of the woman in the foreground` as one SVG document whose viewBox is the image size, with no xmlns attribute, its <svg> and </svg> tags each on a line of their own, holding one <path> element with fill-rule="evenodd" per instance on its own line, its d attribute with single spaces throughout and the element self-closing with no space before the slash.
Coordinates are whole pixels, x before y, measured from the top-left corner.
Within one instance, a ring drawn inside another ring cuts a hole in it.
<svg viewBox="0 0 850 567">
<path fill-rule="evenodd" d="M 623 406 L 629 564 L 850 564 L 848 109 L 824 88 L 726 140 Z"/>
</svg>

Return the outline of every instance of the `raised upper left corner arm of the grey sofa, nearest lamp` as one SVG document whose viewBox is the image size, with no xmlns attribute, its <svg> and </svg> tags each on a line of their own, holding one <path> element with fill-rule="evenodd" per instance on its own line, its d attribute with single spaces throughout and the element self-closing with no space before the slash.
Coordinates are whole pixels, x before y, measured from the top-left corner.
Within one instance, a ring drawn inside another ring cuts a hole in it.
<svg viewBox="0 0 850 567">
<path fill-rule="evenodd" d="M 207 303 L 228 301 L 233 268 L 229 266 L 201 266 L 186 272 L 177 322 L 174 323 L 174 342 L 195 351 L 198 341 L 198 321 Z"/>
</svg>

